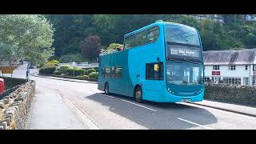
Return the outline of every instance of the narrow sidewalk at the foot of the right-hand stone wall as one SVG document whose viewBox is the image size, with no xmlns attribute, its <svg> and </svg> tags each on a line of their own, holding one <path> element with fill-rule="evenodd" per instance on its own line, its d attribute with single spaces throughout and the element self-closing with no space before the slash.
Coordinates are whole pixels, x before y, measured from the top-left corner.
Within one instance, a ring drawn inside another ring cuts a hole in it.
<svg viewBox="0 0 256 144">
<path fill-rule="evenodd" d="M 219 110 L 226 110 L 238 114 L 245 114 L 256 117 L 256 106 L 242 106 L 237 104 L 230 104 L 225 102 L 214 102 L 203 100 L 202 102 L 189 102 L 200 106 L 208 106 Z"/>
</svg>

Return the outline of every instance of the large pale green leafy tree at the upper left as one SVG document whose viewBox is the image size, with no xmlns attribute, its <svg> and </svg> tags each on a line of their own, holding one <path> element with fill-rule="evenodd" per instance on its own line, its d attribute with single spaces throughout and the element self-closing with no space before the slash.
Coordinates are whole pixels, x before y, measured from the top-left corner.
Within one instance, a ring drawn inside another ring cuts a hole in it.
<svg viewBox="0 0 256 144">
<path fill-rule="evenodd" d="M 42 15 L 0 15 L 0 42 L 14 47 L 12 54 L 42 64 L 54 54 L 54 28 Z"/>
</svg>

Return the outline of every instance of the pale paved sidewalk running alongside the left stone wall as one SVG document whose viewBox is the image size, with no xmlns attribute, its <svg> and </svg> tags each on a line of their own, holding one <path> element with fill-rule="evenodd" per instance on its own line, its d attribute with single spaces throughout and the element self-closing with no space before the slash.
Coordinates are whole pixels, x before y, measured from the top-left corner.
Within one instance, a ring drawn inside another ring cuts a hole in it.
<svg viewBox="0 0 256 144">
<path fill-rule="evenodd" d="M 57 90 L 41 87 L 30 108 L 27 129 L 89 129 L 70 110 Z"/>
</svg>

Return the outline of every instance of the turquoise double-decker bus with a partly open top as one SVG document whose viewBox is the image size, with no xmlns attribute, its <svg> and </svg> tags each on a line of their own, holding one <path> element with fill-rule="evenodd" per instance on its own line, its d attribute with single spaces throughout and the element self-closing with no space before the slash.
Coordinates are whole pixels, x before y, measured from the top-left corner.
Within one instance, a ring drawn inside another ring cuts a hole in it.
<svg viewBox="0 0 256 144">
<path fill-rule="evenodd" d="M 100 54 L 98 90 L 137 102 L 202 101 L 202 42 L 194 27 L 160 20 L 126 34 L 123 44 Z"/>
</svg>

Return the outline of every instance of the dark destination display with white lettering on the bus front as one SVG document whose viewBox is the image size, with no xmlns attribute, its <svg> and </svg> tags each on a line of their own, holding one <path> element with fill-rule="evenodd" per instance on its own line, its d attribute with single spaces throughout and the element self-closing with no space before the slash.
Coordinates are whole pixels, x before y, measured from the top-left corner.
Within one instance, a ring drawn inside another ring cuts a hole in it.
<svg viewBox="0 0 256 144">
<path fill-rule="evenodd" d="M 198 47 L 177 45 L 169 45 L 168 47 L 170 49 L 170 55 L 200 58 L 201 50 Z"/>
</svg>

